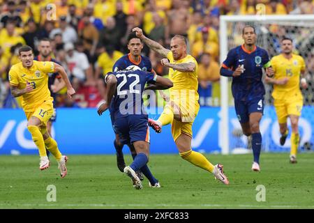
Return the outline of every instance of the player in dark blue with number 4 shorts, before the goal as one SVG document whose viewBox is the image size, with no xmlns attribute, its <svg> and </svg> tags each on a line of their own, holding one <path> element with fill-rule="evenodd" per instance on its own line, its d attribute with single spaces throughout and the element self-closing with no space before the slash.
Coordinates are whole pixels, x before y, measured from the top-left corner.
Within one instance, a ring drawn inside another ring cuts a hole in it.
<svg viewBox="0 0 314 223">
<path fill-rule="evenodd" d="M 253 171 L 260 171 L 260 150 L 262 135 L 260 120 L 264 111 L 264 84 L 262 68 L 269 77 L 274 75 L 266 50 L 255 45 L 256 33 L 253 26 L 242 30 L 244 45 L 230 50 L 223 61 L 220 75 L 232 77 L 232 95 L 234 107 L 246 136 L 252 136 L 254 162 Z"/>
</svg>

